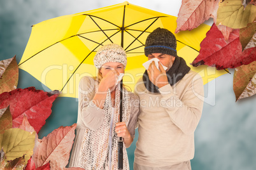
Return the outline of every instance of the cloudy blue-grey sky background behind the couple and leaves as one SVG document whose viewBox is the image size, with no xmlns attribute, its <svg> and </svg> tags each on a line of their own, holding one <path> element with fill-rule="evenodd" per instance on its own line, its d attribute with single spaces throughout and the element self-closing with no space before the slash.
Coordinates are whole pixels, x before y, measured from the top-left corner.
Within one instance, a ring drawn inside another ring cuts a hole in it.
<svg viewBox="0 0 256 170">
<path fill-rule="evenodd" d="M 110 6 L 124 1 L 104 0 L 9 0 L 0 1 L 0 60 L 24 53 L 31 34 L 31 25 L 57 16 L 80 13 Z M 129 3 L 178 16 L 181 0 L 132 0 Z M 212 23 L 212 20 L 206 22 Z M 195 133 L 196 153 L 192 160 L 194 170 L 256 169 L 256 95 L 235 102 L 232 90 L 234 69 L 204 86 L 206 102 Z M 34 77 L 19 70 L 18 88 L 35 86 L 44 89 Z M 59 126 L 76 122 L 77 101 L 74 98 L 57 98 L 52 115 L 39 133 L 43 138 Z M 131 169 L 135 142 L 128 149 Z"/>
</svg>

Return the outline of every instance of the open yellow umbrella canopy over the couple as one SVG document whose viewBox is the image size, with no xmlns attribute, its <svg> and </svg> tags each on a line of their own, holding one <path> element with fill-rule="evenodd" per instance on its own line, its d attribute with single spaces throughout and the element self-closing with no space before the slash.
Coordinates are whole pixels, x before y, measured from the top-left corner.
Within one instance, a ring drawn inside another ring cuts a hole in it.
<svg viewBox="0 0 256 170">
<path fill-rule="evenodd" d="M 124 84 L 134 84 L 145 69 L 142 63 L 146 37 L 157 27 L 174 32 L 176 16 L 148 10 L 124 2 L 97 10 L 60 16 L 32 26 L 31 37 L 19 68 L 29 72 L 45 86 L 62 91 L 60 96 L 77 98 L 78 83 L 85 76 L 95 76 L 94 55 L 104 44 L 116 43 L 127 52 Z M 192 31 L 174 34 L 178 55 L 188 65 L 198 55 L 200 42 L 210 26 L 202 24 Z M 200 72 L 204 84 L 224 71 L 210 67 L 192 67 Z"/>
</svg>

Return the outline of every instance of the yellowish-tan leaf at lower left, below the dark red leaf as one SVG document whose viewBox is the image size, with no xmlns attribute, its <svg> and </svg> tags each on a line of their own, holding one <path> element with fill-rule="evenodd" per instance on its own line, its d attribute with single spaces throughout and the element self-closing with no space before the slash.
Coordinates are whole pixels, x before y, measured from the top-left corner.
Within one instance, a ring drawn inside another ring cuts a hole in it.
<svg viewBox="0 0 256 170">
<path fill-rule="evenodd" d="M 6 160 L 13 160 L 25 154 L 26 163 L 33 154 L 35 133 L 17 128 L 6 130 L 0 136 L 0 147 L 3 147 L 6 153 Z"/>
</svg>

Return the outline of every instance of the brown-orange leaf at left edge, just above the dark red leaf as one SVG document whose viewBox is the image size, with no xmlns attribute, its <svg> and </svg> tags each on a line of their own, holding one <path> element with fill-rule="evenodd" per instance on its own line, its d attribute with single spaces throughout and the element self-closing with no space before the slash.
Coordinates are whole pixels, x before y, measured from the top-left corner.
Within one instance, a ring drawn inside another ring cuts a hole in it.
<svg viewBox="0 0 256 170">
<path fill-rule="evenodd" d="M 16 56 L 0 61 L 0 94 L 17 88 L 18 65 Z"/>
</svg>

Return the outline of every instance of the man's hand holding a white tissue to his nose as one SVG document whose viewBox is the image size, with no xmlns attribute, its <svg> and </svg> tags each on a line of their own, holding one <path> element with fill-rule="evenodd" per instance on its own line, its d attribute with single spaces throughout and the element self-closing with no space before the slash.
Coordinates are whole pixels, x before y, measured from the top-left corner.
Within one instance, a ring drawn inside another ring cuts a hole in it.
<svg viewBox="0 0 256 170">
<path fill-rule="evenodd" d="M 169 84 L 169 82 L 166 76 L 166 70 L 164 70 L 160 62 L 159 69 L 157 69 L 155 66 L 155 62 L 152 62 L 150 63 L 147 72 L 150 81 L 153 82 L 153 84 L 155 84 L 155 86 L 158 88 L 162 88 L 162 86 L 166 86 L 166 84 Z"/>
</svg>

